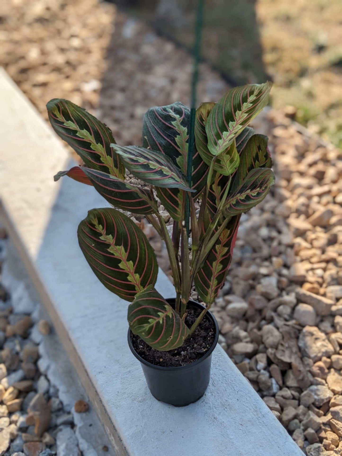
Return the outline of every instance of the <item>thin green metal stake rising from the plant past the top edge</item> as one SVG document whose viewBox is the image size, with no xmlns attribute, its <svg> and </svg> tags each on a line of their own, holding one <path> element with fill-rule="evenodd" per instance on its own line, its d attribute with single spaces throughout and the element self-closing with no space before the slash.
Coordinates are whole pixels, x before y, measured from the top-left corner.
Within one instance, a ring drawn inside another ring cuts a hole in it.
<svg viewBox="0 0 342 456">
<path fill-rule="evenodd" d="M 201 39 L 202 39 L 202 26 L 203 26 L 203 10 L 204 0 L 197 1 L 196 13 L 196 26 L 195 26 L 195 41 L 193 47 L 194 64 L 192 70 L 192 84 L 191 84 L 191 101 L 190 101 L 190 125 L 189 125 L 189 142 L 187 153 L 187 180 L 191 188 L 192 180 L 192 156 L 195 148 L 195 117 L 196 117 L 196 95 L 197 95 L 197 81 L 198 81 L 198 64 L 201 58 Z M 185 206 L 185 228 L 187 236 L 189 236 L 190 227 L 190 204 L 189 196 L 187 194 Z"/>
</svg>

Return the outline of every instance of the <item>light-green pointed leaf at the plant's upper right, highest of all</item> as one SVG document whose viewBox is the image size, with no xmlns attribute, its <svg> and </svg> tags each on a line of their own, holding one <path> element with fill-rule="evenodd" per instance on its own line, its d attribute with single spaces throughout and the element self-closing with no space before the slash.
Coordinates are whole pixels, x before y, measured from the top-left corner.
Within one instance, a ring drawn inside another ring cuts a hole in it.
<svg viewBox="0 0 342 456">
<path fill-rule="evenodd" d="M 212 108 L 207 122 L 208 150 L 220 155 L 267 104 L 271 83 L 235 87 Z"/>
</svg>

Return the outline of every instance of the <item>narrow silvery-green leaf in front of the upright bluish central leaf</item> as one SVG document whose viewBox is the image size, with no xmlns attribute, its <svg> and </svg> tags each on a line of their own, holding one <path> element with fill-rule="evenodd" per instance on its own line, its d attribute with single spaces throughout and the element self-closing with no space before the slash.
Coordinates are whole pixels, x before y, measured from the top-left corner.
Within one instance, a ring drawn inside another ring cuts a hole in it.
<svg viewBox="0 0 342 456">
<path fill-rule="evenodd" d="M 112 148 L 120 155 L 126 168 L 138 179 L 155 187 L 181 188 L 191 192 L 185 176 L 166 155 L 135 145 L 112 144 Z"/>
</svg>

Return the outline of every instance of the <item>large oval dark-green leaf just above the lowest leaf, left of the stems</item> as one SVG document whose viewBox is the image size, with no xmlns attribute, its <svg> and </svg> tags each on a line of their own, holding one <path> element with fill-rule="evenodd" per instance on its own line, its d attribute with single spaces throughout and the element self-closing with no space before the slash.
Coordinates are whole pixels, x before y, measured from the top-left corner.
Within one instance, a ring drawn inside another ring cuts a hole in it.
<svg viewBox="0 0 342 456">
<path fill-rule="evenodd" d="M 135 295 L 157 280 L 158 264 L 145 234 L 122 212 L 92 209 L 78 225 L 78 243 L 98 280 L 120 298 Z"/>
</svg>

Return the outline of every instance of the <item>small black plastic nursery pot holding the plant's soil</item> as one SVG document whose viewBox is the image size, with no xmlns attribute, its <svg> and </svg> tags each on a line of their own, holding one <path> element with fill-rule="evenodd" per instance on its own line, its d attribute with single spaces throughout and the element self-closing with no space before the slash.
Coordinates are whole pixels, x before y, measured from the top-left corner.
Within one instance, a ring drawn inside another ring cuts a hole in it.
<svg viewBox="0 0 342 456">
<path fill-rule="evenodd" d="M 166 299 L 175 305 L 175 299 Z M 196 301 L 189 301 L 188 306 L 194 306 L 201 311 L 204 307 Z M 131 342 L 131 332 L 128 330 L 128 344 L 131 352 L 140 363 L 145 375 L 150 392 L 155 397 L 166 404 L 176 407 L 184 407 L 201 399 L 205 393 L 210 380 L 210 368 L 212 363 L 212 352 L 218 342 L 218 324 L 210 311 L 207 311 L 204 318 L 210 318 L 215 326 L 215 337 L 212 346 L 202 356 L 193 363 L 180 367 L 162 367 L 149 363 L 135 351 Z"/>
</svg>

